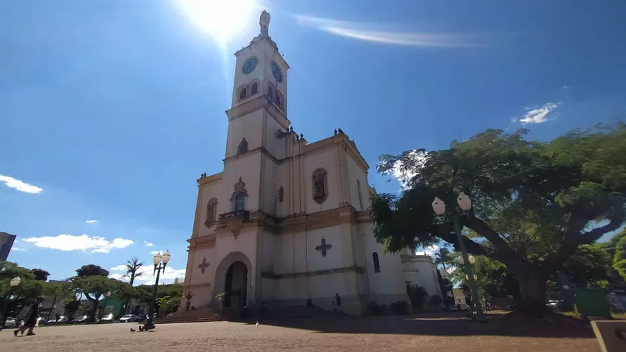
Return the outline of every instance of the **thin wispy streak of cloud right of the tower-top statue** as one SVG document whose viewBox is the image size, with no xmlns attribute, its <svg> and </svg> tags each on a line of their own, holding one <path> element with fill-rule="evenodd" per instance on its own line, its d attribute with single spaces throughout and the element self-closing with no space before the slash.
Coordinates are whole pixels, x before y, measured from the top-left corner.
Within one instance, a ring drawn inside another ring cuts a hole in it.
<svg viewBox="0 0 626 352">
<path fill-rule="evenodd" d="M 390 32 L 380 25 L 346 22 L 329 18 L 296 15 L 300 25 L 313 27 L 341 37 L 403 46 L 476 47 L 485 46 L 476 34 Z M 374 27 L 378 27 L 375 29 Z"/>
</svg>

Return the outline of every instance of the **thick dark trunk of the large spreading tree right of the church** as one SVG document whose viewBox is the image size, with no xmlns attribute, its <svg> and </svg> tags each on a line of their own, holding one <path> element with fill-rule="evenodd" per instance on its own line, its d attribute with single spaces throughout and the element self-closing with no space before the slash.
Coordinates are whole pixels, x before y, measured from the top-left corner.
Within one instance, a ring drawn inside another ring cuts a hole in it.
<svg viewBox="0 0 626 352">
<path fill-rule="evenodd" d="M 526 315 L 542 316 L 549 312 L 546 307 L 547 278 L 536 268 L 528 268 L 515 275 L 519 282 L 519 311 Z"/>
</svg>

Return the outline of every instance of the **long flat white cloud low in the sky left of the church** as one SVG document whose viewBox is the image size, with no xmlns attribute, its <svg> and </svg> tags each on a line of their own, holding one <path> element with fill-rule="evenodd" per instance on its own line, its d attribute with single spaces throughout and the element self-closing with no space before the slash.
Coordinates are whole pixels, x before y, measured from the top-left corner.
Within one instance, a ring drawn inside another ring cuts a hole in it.
<svg viewBox="0 0 626 352">
<path fill-rule="evenodd" d="M 132 245 L 133 240 L 117 237 L 109 241 L 104 237 L 89 236 L 82 234 L 79 236 L 61 234 L 57 236 L 29 237 L 25 242 L 34 243 L 37 247 L 60 249 L 62 251 L 87 251 L 92 253 L 108 253 L 111 249 L 126 248 Z"/>
</svg>

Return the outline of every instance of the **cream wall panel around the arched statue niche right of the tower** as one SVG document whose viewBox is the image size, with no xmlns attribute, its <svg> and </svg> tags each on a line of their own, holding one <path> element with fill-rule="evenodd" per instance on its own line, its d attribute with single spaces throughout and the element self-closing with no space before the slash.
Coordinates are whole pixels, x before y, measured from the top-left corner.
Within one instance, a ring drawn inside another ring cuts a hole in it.
<svg viewBox="0 0 626 352">
<path fill-rule="evenodd" d="M 322 204 L 318 204 L 313 200 L 313 182 L 311 180 L 313 171 L 320 167 L 328 172 L 328 197 Z M 340 195 L 337 184 L 337 159 L 334 148 L 307 154 L 304 159 L 304 175 L 302 175 L 301 181 L 303 185 L 300 191 L 304 200 L 306 200 L 307 214 L 336 209 L 339 205 Z"/>
</svg>

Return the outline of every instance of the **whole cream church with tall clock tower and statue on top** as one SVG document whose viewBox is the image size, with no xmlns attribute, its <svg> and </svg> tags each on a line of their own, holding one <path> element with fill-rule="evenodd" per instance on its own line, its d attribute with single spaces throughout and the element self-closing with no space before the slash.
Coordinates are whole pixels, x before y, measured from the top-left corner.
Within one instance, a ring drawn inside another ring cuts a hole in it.
<svg viewBox="0 0 626 352">
<path fill-rule="evenodd" d="M 337 129 L 308 142 L 289 120 L 289 65 L 261 32 L 235 53 L 223 171 L 202 174 L 183 295 L 206 307 L 334 307 L 409 301 L 406 282 L 441 291 L 429 256 L 385 254 L 368 213 L 374 189 L 356 144 Z M 185 304 L 183 299 L 181 304 Z"/>
</svg>

